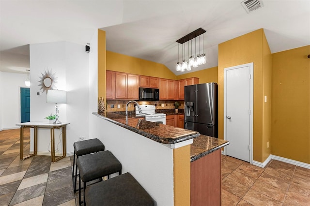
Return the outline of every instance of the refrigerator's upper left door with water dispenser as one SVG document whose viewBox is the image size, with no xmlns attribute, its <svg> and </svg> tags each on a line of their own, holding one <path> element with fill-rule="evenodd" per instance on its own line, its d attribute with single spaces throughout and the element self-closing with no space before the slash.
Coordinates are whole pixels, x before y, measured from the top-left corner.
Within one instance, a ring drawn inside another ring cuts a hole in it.
<svg viewBox="0 0 310 206">
<path fill-rule="evenodd" d="M 184 88 L 184 120 L 196 121 L 196 85 L 185 86 Z"/>
</svg>

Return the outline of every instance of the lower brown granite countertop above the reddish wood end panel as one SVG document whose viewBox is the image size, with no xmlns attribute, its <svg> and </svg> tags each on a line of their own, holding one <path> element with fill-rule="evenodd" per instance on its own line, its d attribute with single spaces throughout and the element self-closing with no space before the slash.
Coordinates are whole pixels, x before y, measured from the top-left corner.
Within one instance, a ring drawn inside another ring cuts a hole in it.
<svg viewBox="0 0 310 206">
<path fill-rule="evenodd" d="M 190 145 L 190 162 L 194 162 L 221 147 L 229 145 L 229 142 L 201 134 Z"/>
</svg>

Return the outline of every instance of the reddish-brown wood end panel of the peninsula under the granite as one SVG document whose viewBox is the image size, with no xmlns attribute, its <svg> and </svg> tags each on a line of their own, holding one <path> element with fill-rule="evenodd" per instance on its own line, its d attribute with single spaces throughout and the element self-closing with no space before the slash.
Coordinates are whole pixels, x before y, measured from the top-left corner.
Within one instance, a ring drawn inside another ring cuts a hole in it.
<svg viewBox="0 0 310 206">
<path fill-rule="evenodd" d="M 190 162 L 190 205 L 221 205 L 221 149 Z"/>
</svg>

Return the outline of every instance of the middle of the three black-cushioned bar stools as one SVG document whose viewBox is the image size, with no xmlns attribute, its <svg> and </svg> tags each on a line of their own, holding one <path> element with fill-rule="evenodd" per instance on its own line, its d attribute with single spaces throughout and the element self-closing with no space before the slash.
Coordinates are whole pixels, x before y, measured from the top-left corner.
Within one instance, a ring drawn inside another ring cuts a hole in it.
<svg viewBox="0 0 310 206">
<path fill-rule="evenodd" d="M 87 154 L 80 156 L 77 159 L 79 177 L 78 177 L 78 202 L 82 204 L 81 201 L 81 180 L 84 183 L 84 195 L 86 190 L 86 183 L 99 179 L 102 181 L 102 177 L 117 173 L 122 174 L 122 164 L 116 157 L 108 150 L 101 151 L 93 154 Z"/>
</svg>

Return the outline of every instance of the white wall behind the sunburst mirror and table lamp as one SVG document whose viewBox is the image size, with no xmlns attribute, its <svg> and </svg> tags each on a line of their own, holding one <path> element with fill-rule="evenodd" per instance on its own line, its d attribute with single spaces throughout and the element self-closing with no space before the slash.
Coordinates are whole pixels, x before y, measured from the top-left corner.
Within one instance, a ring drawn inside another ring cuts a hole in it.
<svg viewBox="0 0 310 206">
<path fill-rule="evenodd" d="M 41 73 L 50 70 L 57 77 L 56 88 L 67 91 L 67 103 L 59 104 L 59 119 L 62 122 L 70 122 L 66 133 L 67 154 L 73 154 L 73 143 L 79 136 L 88 138 L 89 134 L 89 70 L 85 45 L 68 42 L 31 44 L 30 68 L 31 121 L 46 121 L 44 118 L 48 114 L 56 113 L 55 104 L 46 103 L 46 93 L 42 93 L 42 96 L 36 95 L 40 89 L 38 80 L 42 76 Z M 49 135 L 49 130 L 38 131 L 38 154 L 48 153 Z M 58 145 L 60 140 L 55 139 L 55 144 Z"/>
</svg>

